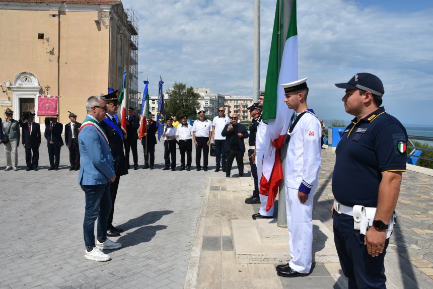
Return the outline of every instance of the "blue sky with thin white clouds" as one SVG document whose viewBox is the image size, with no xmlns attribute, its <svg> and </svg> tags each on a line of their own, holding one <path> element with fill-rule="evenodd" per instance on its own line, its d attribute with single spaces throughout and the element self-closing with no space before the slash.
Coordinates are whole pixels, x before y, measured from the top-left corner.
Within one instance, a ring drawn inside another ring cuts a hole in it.
<svg viewBox="0 0 433 289">
<path fill-rule="evenodd" d="M 260 83 L 264 88 L 276 0 L 261 0 Z M 139 17 L 139 90 L 159 76 L 211 92 L 251 95 L 254 1 L 124 0 Z M 384 106 L 405 124 L 433 117 L 433 2 L 298 0 L 299 78 L 320 118 L 352 117 L 333 84 L 370 72 Z"/>
</svg>

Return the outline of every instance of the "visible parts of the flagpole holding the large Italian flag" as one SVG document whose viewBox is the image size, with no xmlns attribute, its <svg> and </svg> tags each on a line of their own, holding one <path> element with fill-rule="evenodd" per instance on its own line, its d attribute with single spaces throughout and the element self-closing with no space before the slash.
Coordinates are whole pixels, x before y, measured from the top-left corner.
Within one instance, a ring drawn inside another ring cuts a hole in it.
<svg viewBox="0 0 433 289">
<path fill-rule="evenodd" d="M 282 23 L 282 27 L 281 27 L 282 31 L 279 34 L 279 41 L 285 41 L 285 35 L 287 35 L 288 25 L 290 24 L 290 18 L 292 15 L 293 2 L 294 2 L 294 0 L 282 0 L 280 2 L 280 5 L 282 4 L 282 6 L 280 6 L 279 15 L 280 15 L 280 20 L 282 18 L 283 23 Z M 280 21 L 280 23 L 281 23 L 281 21 Z M 278 45 L 278 46 L 283 48 L 283 45 Z M 278 51 L 278 57 L 281 57 L 281 51 Z M 280 61 L 279 61 L 279 63 L 280 63 Z M 287 115 L 287 117 L 291 117 L 291 116 Z M 286 206 L 285 206 L 285 190 L 284 190 L 285 157 L 287 155 L 287 144 L 283 144 L 283 146 L 281 147 L 279 152 L 280 152 L 283 178 L 279 184 L 278 216 L 277 216 L 276 225 L 278 227 L 287 228 L 287 213 L 286 213 Z M 313 197 L 313 196 L 310 196 L 310 197 Z"/>
</svg>

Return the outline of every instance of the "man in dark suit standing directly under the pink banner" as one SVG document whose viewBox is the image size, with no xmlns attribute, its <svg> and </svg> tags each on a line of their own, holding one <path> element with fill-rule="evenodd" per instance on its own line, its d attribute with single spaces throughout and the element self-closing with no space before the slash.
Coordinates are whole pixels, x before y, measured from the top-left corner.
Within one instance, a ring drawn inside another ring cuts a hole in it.
<svg viewBox="0 0 433 289">
<path fill-rule="evenodd" d="M 63 146 L 63 139 L 61 137 L 63 124 L 57 122 L 57 117 L 58 115 L 56 117 L 45 118 L 44 136 L 47 140 L 48 157 L 50 159 L 48 171 L 57 171 L 60 164 L 60 149 Z"/>
</svg>

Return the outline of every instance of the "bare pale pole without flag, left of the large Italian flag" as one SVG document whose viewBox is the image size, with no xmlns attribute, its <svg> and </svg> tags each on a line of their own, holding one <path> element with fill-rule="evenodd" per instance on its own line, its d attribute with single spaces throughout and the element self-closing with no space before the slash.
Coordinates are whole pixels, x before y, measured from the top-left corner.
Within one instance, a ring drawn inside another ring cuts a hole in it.
<svg viewBox="0 0 433 289">
<path fill-rule="evenodd" d="M 260 0 L 254 0 L 254 56 L 253 56 L 253 102 L 260 91 Z"/>
</svg>

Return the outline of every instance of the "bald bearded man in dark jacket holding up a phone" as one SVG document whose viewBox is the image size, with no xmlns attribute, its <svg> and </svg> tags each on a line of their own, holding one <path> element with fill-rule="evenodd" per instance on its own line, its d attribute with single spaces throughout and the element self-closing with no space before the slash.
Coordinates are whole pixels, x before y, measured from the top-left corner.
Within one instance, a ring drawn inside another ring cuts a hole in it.
<svg viewBox="0 0 433 289">
<path fill-rule="evenodd" d="M 248 131 L 244 125 L 238 123 L 238 119 L 236 113 L 232 114 L 231 123 L 226 124 L 221 132 L 222 136 L 226 136 L 224 152 L 227 154 L 226 177 L 228 178 L 230 178 L 230 171 L 235 158 L 238 163 L 239 176 L 244 176 L 244 138 L 248 137 Z"/>
</svg>

